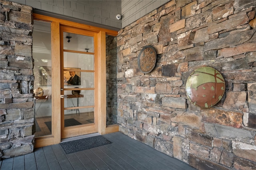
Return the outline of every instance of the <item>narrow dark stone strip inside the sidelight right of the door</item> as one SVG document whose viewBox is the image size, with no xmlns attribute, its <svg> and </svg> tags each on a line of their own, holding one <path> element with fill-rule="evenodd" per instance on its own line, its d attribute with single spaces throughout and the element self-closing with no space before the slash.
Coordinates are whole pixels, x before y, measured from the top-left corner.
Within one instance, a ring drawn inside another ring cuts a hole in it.
<svg viewBox="0 0 256 170">
<path fill-rule="evenodd" d="M 116 37 L 106 37 L 106 125 L 117 124 Z"/>
</svg>

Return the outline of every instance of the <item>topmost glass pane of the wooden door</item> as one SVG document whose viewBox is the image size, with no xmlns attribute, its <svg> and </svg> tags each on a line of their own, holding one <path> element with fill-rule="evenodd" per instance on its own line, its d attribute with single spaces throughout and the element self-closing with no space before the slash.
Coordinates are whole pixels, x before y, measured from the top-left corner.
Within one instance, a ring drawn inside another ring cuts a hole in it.
<svg viewBox="0 0 256 170">
<path fill-rule="evenodd" d="M 63 32 L 63 49 L 93 53 L 93 37 Z"/>
</svg>

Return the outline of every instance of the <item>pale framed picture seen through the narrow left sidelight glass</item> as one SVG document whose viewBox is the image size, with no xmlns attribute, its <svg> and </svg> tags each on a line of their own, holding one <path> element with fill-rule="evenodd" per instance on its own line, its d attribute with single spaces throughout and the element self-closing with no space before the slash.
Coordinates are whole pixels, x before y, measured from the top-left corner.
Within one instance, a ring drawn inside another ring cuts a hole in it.
<svg viewBox="0 0 256 170">
<path fill-rule="evenodd" d="M 52 67 L 39 66 L 39 82 L 41 86 L 52 85 Z"/>
</svg>

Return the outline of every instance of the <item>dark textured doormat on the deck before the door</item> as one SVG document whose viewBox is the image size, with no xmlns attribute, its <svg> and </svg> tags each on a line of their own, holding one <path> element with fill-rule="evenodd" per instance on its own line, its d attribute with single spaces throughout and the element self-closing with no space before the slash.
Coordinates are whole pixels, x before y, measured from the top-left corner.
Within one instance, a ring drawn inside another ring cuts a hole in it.
<svg viewBox="0 0 256 170">
<path fill-rule="evenodd" d="M 88 137 L 84 139 L 78 139 L 75 141 L 60 143 L 60 146 L 63 148 L 66 154 L 69 154 L 69 153 L 78 152 L 81 150 L 99 147 L 102 145 L 107 145 L 110 143 L 112 142 L 108 141 L 108 139 L 99 135 L 95 137 Z"/>
</svg>

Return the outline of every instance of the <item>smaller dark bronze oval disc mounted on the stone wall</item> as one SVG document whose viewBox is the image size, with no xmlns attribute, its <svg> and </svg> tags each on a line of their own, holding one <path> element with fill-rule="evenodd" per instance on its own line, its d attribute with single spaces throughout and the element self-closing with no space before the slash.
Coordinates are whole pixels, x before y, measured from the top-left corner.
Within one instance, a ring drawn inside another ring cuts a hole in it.
<svg viewBox="0 0 256 170">
<path fill-rule="evenodd" d="M 143 47 L 138 56 L 138 68 L 142 73 L 148 73 L 156 65 L 156 50 L 151 45 Z"/>
</svg>

